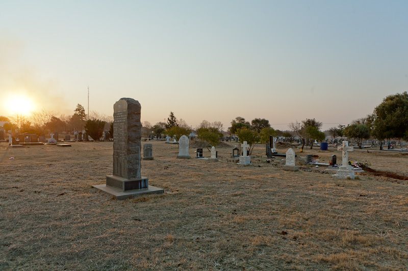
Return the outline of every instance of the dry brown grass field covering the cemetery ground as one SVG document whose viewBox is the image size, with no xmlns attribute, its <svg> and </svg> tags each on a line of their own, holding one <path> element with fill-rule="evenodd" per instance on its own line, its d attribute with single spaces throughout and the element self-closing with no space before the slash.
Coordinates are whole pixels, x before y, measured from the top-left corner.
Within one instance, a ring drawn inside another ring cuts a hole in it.
<svg viewBox="0 0 408 271">
<path fill-rule="evenodd" d="M 218 148 L 219 162 L 194 159 L 192 147 L 192 159 L 176 159 L 177 144 L 148 143 L 154 160 L 142 160 L 142 175 L 165 193 L 122 201 L 91 187 L 112 173 L 112 142 L 0 143 L 0 269 L 408 266 L 407 180 L 334 179 L 301 161 L 336 154 L 341 163 L 334 148 L 295 148 L 301 170 L 290 172 L 282 158 L 261 158 L 264 145 L 243 167 L 226 162 L 232 143 Z M 408 176 L 408 153 L 355 149 L 350 160 Z"/>
</svg>

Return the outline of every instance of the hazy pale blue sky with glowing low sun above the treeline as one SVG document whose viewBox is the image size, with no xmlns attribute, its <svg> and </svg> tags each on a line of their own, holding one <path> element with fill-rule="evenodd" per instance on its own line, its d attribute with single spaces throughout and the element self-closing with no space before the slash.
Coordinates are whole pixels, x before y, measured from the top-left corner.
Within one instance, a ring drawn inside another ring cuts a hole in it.
<svg viewBox="0 0 408 271">
<path fill-rule="evenodd" d="M 129 97 L 151 124 L 173 111 L 193 127 L 328 129 L 408 90 L 406 14 L 407 1 L 0 0 L 0 115 L 10 97 L 87 110 L 89 86 L 90 111 Z"/>
</svg>

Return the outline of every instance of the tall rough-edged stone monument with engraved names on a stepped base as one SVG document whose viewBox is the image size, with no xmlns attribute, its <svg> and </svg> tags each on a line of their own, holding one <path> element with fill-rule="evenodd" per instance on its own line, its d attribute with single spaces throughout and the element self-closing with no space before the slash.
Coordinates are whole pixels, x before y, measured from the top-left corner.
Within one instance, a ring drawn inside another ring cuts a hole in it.
<svg viewBox="0 0 408 271">
<path fill-rule="evenodd" d="M 106 176 L 106 185 L 94 185 L 117 199 L 148 193 L 164 193 L 149 186 L 148 178 L 141 174 L 142 124 L 140 103 L 121 98 L 113 106 L 113 175 Z"/>
</svg>

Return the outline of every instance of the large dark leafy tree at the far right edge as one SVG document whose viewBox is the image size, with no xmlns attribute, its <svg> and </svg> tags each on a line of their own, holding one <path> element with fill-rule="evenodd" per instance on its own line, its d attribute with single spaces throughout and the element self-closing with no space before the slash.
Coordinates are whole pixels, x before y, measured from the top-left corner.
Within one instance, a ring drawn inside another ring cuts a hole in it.
<svg viewBox="0 0 408 271">
<path fill-rule="evenodd" d="M 379 139 L 408 140 L 408 93 L 389 95 L 374 109 L 373 135 Z"/>
</svg>

